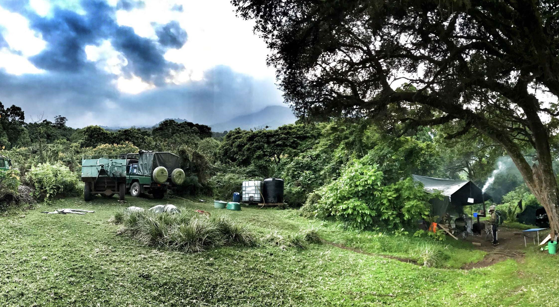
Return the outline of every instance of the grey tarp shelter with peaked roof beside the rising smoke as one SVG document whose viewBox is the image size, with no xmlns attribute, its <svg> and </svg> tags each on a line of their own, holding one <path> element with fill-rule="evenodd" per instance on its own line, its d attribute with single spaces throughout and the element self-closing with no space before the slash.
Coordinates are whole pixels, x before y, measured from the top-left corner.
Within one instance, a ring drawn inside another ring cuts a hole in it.
<svg viewBox="0 0 559 307">
<path fill-rule="evenodd" d="M 483 203 L 491 199 L 489 194 L 482 193 L 481 189 L 469 180 L 440 179 L 418 175 L 412 175 L 412 177 L 414 181 L 423 183 L 425 192 L 440 191 L 443 195 L 443 199 L 433 197 L 429 201 L 432 204 L 431 214 L 439 216 L 438 221 L 444 213 L 460 216 L 463 214 L 463 206 Z"/>
</svg>

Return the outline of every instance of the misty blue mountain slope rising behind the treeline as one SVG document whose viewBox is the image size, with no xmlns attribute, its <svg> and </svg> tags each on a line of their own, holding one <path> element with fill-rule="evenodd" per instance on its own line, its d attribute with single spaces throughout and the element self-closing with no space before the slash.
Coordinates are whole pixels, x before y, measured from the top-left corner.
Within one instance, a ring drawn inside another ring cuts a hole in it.
<svg viewBox="0 0 559 307">
<path fill-rule="evenodd" d="M 221 123 L 212 124 L 211 130 L 214 132 L 222 132 L 225 130 L 233 130 L 235 128 L 252 129 L 268 126 L 268 129 L 276 129 L 281 125 L 293 124 L 297 118 L 287 106 L 273 105 L 245 115 L 236 116 L 233 119 L 222 121 Z"/>
</svg>

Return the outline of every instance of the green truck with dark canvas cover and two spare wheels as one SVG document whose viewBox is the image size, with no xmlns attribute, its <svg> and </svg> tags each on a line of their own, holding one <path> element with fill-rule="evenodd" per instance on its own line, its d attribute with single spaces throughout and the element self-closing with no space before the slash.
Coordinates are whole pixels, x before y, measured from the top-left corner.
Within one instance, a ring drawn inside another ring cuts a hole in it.
<svg viewBox="0 0 559 307">
<path fill-rule="evenodd" d="M 176 188 L 184 179 L 181 158 L 176 154 L 140 150 L 126 155 L 126 189 L 132 197 L 149 193 L 162 199 L 168 189 Z"/>
</svg>

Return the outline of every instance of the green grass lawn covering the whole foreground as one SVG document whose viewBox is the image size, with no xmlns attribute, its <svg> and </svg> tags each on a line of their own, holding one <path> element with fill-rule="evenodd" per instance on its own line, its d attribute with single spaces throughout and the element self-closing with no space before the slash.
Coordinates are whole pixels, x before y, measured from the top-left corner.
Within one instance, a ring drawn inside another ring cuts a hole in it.
<svg viewBox="0 0 559 307">
<path fill-rule="evenodd" d="M 173 203 L 214 213 L 211 202 L 128 197 L 127 206 Z M 79 208 L 87 215 L 45 215 Z M 268 245 L 221 247 L 184 254 L 141 246 L 116 235 L 109 218 L 124 208 L 116 198 L 86 203 L 68 198 L 0 217 L 1 306 L 555 306 L 555 256 L 527 250 L 472 269 L 484 252 L 447 240 L 439 267 L 421 267 L 328 243 L 306 250 Z M 417 259 L 427 238 L 352 232 L 307 220 L 295 210 L 220 210 L 248 223 L 257 236 L 315 228 L 321 237 L 377 255 Z M 23 217 L 25 215 L 25 217 Z"/>
</svg>

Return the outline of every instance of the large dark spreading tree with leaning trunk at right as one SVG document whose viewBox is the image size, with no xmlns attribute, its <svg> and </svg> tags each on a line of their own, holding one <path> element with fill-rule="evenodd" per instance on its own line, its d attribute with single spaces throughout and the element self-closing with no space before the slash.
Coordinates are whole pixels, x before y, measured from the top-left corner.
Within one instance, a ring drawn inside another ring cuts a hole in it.
<svg viewBox="0 0 559 307">
<path fill-rule="evenodd" d="M 451 137 L 476 129 L 506 150 L 559 230 L 557 1 L 232 2 L 256 20 L 298 115 L 452 123 Z M 415 89 L 396 91 L 402 81 Z"/>
</svg>

